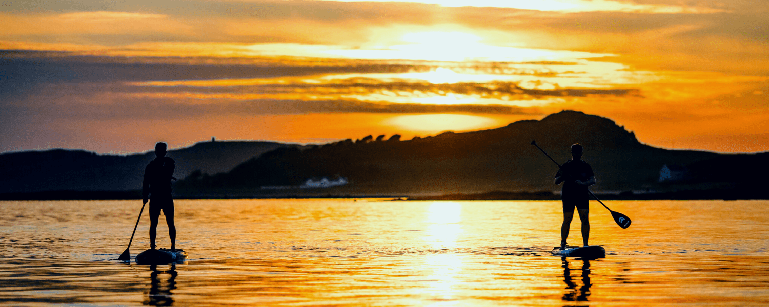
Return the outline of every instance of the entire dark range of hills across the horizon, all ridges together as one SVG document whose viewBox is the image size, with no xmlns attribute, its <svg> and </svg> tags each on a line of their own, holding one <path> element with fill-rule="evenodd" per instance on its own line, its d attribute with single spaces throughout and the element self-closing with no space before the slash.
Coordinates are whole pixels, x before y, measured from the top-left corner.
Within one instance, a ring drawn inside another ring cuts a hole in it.
<svg viewBox="0 0 769 307">
<path fill-rule="evenodd" d="M 365 137 L 312 146 L 201 142 L 171 150 L 168 155 L 177 161 L 177 197 L 479 194 L 494 198 L 517 193 L 515 197 L 520 198 L 527 196 L 518 192 L 558 192 L 560 187 L 552 183 L 557 167 L 531 146 L 531 140 L 537 140 L 560 163 L 570 158 L 571 144 L 583 144 L 584 160 L 591 163 L 598 177 L 592 190 L 598 193 L 689 190 L 691 193 L 682 197 L 707 194 L 720 198 L 717 195 L 723 194 L 761 198 L 766 193 L 751 191 L 764 191 L 769 183 L 765 176 L 769 153 L 718 154 L 650 147 L 612 120 L 577 111 L 561 111 L 542 120 L 522 120 L 498 129 L 447 132 L 403 141 L 396 135 L 388 140 Z M 0 193 L 7 199 L 136 198 L 144 167 L 153 158 L 151 151 L 125 156 L 83 150 L 4 153 L 0 154 Z M 690 179 L 657 183 L 664 164 L 687 166 Z M 261 189 L 298 186 L 308 178 L 319 177 L 346 177 L 350 183 L 328 189 Z M 714 190 L 720 192 L 708 194 Z M 42 193 L 45 191 L 62 192 Z M 637 197 L 625 193 L 628 195 Z"/>
</svg>

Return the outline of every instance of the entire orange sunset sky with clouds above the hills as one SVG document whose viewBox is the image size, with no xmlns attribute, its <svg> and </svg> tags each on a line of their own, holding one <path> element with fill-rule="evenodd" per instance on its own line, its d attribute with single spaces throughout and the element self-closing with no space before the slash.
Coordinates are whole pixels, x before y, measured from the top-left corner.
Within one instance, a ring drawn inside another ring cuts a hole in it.
<svg viewBox="0 0 769 307">
<path fill-rule="evenodd" d="M 769 2 L 0 0 L 0 152 L 324 143 L 561 110 L 769 150 Z"/>
</svg>

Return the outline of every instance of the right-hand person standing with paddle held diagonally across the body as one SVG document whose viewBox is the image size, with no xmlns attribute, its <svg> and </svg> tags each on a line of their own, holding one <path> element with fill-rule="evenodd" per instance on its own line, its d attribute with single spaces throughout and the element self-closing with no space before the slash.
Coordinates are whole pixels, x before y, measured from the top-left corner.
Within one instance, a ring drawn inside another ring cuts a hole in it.
<svg viewBox="0 0 769 307">
<path fill-rule="evenodd" d="M 555 184 L 564 183 L 561 188 L 561 202 L 564 207 L 564 223 L 561 224 L 561 249 L 566 249 L 569 226 L 577 207 L 579 220 L 582 222 L 582 242 L 588 246 L 590 222 L 588 222 L 588 187 L 595 184 L 595 175 L 590 164 L 581 160 L 584 148 L 580 144 L 571 145 L 571 160 L 566 161 L 555 174 Z"/>
</svg>

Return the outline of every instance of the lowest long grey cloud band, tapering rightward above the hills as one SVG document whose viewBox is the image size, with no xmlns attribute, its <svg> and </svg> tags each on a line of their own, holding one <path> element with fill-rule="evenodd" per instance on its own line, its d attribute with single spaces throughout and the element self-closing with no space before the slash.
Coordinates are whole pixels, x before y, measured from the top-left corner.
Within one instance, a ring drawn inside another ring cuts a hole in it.
<svg viewBox="0 0 769 307">
<path fill-rule="evenodd" d="M 265 114 L 428 114 L 428 113 L 474 113 L 474 114 L 531 114 L 523 107 L 501 105 L 434 105 L 434 104 L 387 104 L 354 100 L 278 100 L 232 99 L 228 95 L 194 94 L 158 95 L 123 94 L 112 91 L 82 91 L 83 87 L 65 86 L 50 88 L 39 94 L 25 97 L 23 101 L 4 101 L 5 116 L 27 120 L 56 122 L 60 120 L 173 120 L 191 117 L 238 115 L 251 117 Z M 7 123 L 7 122 L 6 122 Z M 18 120 L 13 121 L 11 130 L 21 128 Z M 8 123 L 11 124 L 11 123 Z M 28 127 L 37 130 L 39 127 Z"/>
</svg>

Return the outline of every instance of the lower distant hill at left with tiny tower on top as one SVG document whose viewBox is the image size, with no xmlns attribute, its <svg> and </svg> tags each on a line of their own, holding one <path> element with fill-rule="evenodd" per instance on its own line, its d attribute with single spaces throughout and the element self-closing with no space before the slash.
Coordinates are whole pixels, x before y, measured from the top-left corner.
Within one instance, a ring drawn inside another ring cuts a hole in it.
<svg viewBox="0 0 769 307">
<path fill-rule="evenodd" d="M 275 142 L 217 141 L 169 150 L 176 160 L 175 176 L 194 170 L 222 173 L 239 163 L 280 147 Z M 45 150 L 0 154 L 0 193 L 51 190 L 117 191 L 141 189 L 144 168 L 155 154 L 98 154 L 84 150 Z"/>
</svg>

